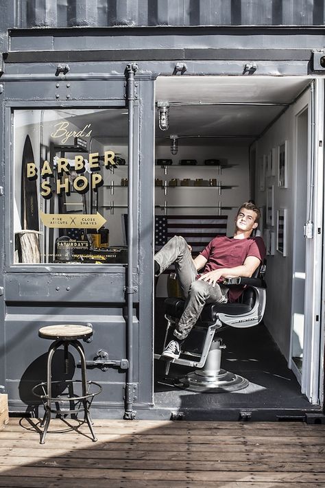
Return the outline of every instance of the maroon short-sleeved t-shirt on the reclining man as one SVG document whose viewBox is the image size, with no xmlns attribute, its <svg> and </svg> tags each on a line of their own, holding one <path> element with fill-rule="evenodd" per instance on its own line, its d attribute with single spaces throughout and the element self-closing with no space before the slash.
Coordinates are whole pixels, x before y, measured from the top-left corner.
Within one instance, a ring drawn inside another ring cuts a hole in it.
<svg viewBox="0 0 325 488">
<path fill-rule="evenodd" d="M 247 239 L 234 239 L 233 237 L 215 237 L 200 253 L 208 259 L 202 274 L 219 268 L 234 268 L 241 266 L 246 257 L 254 256 L 262 262 L 265 258 L 265 244 L 262 237 L 248 237 Z M 237 300 L 243 288 L 231 287 L 228 293 L 230 302 Z"/>
</svg>

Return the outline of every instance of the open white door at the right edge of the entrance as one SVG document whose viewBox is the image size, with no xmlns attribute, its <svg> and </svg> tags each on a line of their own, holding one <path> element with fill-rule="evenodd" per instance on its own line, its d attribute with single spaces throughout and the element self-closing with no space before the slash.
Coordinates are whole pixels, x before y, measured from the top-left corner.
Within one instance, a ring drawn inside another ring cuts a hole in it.
<svg viewBox="0 0 325 488">
<path fill-rule="evenodd" d="M 311 83 L 308 109 L 296 117 L 296 220 L 289 367 L 311 404 L 322 404 L 324 80 Z M 304 236 L 302 234 L 304 229 Z"/>
</svg>

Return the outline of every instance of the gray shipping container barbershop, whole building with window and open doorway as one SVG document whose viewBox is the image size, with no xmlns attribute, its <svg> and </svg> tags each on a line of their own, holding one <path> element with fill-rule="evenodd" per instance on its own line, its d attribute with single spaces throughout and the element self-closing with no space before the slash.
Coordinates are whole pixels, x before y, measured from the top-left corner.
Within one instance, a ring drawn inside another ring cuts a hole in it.
<svg viewBox="0 0 325 488">
<path fill-rule="evenodd" d="M 44 414 L 40 327 L 88 325 L 95 418 L 324 423 L 324 1 L 2 3 L 11 415 Z M 162 358 L 184 301 L 154 253 L 231 237 L 249 200 L 265 262 Z M 52 380 L 80 375 L 59 348 Z"/>
</svg>

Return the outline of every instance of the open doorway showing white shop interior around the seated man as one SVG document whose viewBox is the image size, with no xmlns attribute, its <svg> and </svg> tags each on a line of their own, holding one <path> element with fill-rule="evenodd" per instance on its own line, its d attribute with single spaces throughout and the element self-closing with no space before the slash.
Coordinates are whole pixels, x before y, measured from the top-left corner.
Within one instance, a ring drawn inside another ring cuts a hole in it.
<svg viewBox="0 0 325 488">
<path fill-rule="evenodd" d="M 234 393 L 173 387 L 184 367 L 155 362 L 155 404 L 178 410 L 238 410 L 300 415 L 322 406 L 322 148 L 324 85 L 311 77 L 158 77 L 156 80 L 156 250 L 180 229 L 169 220 L 217 218 L 232 235 L 242 202 L 261 209 L 267 246 L 263 323 L 226 329 L 222 367 L 250 380 Z M 161 229 L 161 218 L 167 227 Z M 308 235 L 311 230 L 313 235 Z M 190 229 L 194 253 L 210 238 Z M 306 235 L 307 234 L 307 237 Z M 311 238 L 309 238 L 311 237 Z M 155 352 L 161 352 L 168 275 L 156 283 Z M 169 291 L 167 291 L 169 288 Z M 271 415 L 271 416 L 272 416 Z M 267 417 L 269 418 L 270 415 Z"/>
</svg>

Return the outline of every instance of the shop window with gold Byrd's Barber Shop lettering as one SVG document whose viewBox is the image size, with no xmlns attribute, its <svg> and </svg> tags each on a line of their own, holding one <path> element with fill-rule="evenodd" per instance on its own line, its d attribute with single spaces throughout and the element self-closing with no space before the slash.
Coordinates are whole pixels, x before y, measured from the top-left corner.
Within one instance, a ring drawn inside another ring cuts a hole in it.
<svg viewBox="0 0 325 488">
<path fill-rule="evenodd" d="M 125 263 L 128 112 L 14 111 L 14 263 Z"/>
</svg>

